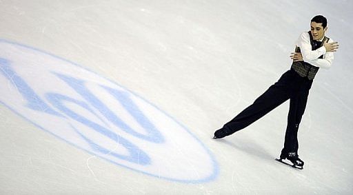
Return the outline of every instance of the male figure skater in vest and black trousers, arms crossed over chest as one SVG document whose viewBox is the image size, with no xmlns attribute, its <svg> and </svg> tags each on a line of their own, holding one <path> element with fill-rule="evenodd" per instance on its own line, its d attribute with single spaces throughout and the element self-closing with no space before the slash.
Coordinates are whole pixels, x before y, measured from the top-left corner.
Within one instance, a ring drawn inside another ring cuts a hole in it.
<svg viewBox="0 0 353 195">
<path fill-rule="evenodd" d="M 290 56 L 293 59 L 290 70 L 252 105 L 225 123 L 221 129 L 216 130 L 214 138 L 223 138 L 247 127 L 290 99 L 285 142 L 279 160 L 302 169 L 304 162 L 298 155 L 297 133 L 305 111 L 307 96 L 319 68 L 330 68 L 334 59 L 333 53 L 339 48 L 337 42 L 325 37 L 326 30 L 326 18 L 321 15 L 314 17 L 310 22 L 310 31 L 303 32 L 296 41 L 296 50 Z"/>
</svg>

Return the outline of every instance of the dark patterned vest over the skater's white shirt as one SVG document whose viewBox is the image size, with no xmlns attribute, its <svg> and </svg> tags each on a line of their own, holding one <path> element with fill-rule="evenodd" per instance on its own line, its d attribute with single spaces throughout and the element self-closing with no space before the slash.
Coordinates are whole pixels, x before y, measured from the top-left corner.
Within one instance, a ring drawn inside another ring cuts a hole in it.
<svg viewBox="0 0 353 195">
<path fill-rule="evenodd" d="M 308 33 L 310 35 L 310 44 L 312 45 L 312 50 L 321 48 L 321 46 L 323 46 L 323 43 L 330 39 L 327 37 L 323 37 L 323 41 L 320 44 L 316 44 L 317 41 L 314 41 L 314 39 L 312 39 L 312 32 L 309 31 Z M 296 46 L 295 52 L 301 52 L 301 48 Z M 323 55 L 321 55 L 319 59 L 323 59 Z M 314 79 L 316 73 L 319 71 L 319 67 L 311 65 L 310 63 L 307 63 L 305 61 L 293 61 L 291 68 L 295 70 L 295 72 L 298 73 L 301 77 L 307 77 L 307 79 L 309 80 Z"/>
</svg>

